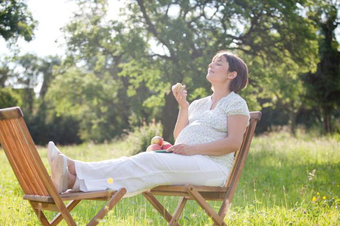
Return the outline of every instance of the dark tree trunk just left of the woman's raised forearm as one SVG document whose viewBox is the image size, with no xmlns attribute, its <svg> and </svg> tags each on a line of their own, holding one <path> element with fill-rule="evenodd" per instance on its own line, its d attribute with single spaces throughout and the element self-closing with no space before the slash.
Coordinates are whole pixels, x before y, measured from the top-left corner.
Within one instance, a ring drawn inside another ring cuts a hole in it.
<svg viewBox="0 0 340 226">
<path fill-rule="evenodd" d="M 165 141 L 174 144 L 173 130 L 175 129 L 178 116 L 178 103 L 172 92 L 165 95 L 165 106 L 162 111 L 163 138 Z"/>
</svg>

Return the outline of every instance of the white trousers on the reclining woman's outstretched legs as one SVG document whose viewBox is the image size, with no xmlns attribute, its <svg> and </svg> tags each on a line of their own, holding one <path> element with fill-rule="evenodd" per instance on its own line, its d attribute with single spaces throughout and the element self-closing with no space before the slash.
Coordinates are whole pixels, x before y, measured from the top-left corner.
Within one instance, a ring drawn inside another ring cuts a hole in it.
<svg viewBox="0 0 340 226">
<path fill-rule="evenodd" d="M 159 185 L 223 186 L 229 169 L 204 155 L 141 152 L 130 157 L 84 162 L 75 161 L 73 189 L 83 192 L 124 187 L 123 198 Z M 112 180 L 113 182 L 112 182 Z"/>
</svg>

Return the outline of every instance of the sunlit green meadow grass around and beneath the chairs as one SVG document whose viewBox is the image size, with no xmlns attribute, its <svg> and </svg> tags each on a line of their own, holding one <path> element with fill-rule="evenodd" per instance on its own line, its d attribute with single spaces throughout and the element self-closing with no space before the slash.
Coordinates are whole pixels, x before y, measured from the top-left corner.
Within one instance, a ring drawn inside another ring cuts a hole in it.
<svg viewBox="0 0 340 226">
<path fill-rule="evenodd" d="M 124 141 L 61 146 L 70 158 L 101 161 L 132 154 Z M 39 155 L 50 172 L 46 148 Z M 0 150 L 0 225 L 39 225 L 12 168 Z M 315 175 L 312 174 L 313 170 Z M 340 225 L 340 136 L 311 137 L 286 132 L 253 139 L 242 176 L 225 221 L 228 225 Z M 170 211 L 179 197 L 156 196 Z M 85 225 L 105 202 L 82 201 L 71 214 Z M 208 201 L 218 211 L 221 201 Z M 45 211 L 48 219 L 55 213 Z M 192 200 L 179 220 L 184 226 L 212 225 L 213 221 Z M 60 225 L 66 225 L 62 221 Z M 159 225 L 166 221 L 142 194 L 122 199 L 100 225 Z"/>
</svg>

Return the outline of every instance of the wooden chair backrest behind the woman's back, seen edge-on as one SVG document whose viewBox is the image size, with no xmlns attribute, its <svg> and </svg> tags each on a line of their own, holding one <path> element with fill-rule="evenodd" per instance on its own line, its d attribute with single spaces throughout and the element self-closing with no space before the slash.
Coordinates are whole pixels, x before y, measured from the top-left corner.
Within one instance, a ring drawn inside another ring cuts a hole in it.
<svg viewBox="0 0 340 226">
<path fill-rule="evenodd" d="M 235 152 L 234 164 L 230 171 L 228 180 L 226 181 L 224 185 L 225 187 L 229 187 L 228 193 L 230 193 L 231 197 L 235 193 L 235 189 L 238 184 L 238 180 L 241 176 L 243 165 L 247 158 L 249 147 L 254 136 L 255 127 L 256 127 L 257 122 L 261 120 L 261 115 L 262 115 L 261 112 L 250 113 L 250 122 L 249 122 L 249 125 L 246 131 L 244 132 L 241 147 L 239 148 L 237 152 Z"/>
</svg>

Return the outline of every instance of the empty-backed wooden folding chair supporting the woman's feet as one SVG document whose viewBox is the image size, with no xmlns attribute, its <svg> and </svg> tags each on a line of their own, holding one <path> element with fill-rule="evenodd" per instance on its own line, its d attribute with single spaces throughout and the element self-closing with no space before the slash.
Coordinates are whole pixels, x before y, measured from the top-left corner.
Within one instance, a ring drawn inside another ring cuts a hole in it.
<svg viewBox="0 0 340 226">
<path fill-rule="evenodd" d="M 126 194 L 125 188 L 118 191 L 73 192 L 58 194 L 40 159 L 23 114 L 18 107 L 0 109 L 0 144 L 23 190 L 23 198 L 31 204 L 39 221 L 44 226 L 55 226 L 62 219 L 75 226 L 70 211 L 83 199 L 105 200 L 106 205 L 92 218 L 88 226 L 97 225 Z M 72 200 L 66 206 L 63 201 Z M 42 210 L 58 214 L 49 222 Z"/>
</svg>

